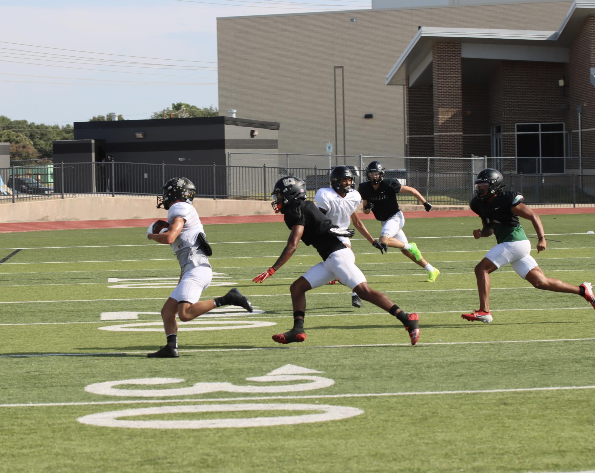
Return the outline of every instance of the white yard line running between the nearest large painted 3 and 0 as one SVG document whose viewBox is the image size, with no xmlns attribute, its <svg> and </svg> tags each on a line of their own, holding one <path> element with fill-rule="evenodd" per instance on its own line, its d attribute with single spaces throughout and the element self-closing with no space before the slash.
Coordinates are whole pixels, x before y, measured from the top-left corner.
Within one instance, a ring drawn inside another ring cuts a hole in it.
<svg viewBox="0 0 595 473">
<path fill-rule="evenodd" d="M 449 395 L 449 394 L 490 394 L 508 392 L 538 391 L 576 391 L 595 389 L 595 386 L 548 386 L 544 388 L 511 388 L 511 389 L 472 389 L 461 391 L 404 391 L 380 393 L 352 394 L 310 394 L 302 396 L 245 396 L 237 398 L 198 398 L 198 399 L 139 399 L 137 401 L 95 401 L 95 402 L 38 402 L 36 404 L 0 404 L 4 407 L 64 407 L 110 404 L 165 404 L 173 402 L 227 402 L 227 401 L 267 401 L 269 399 L 345 399 L 345 398 L 387 398 L 394 396 Z"/>
</svg>

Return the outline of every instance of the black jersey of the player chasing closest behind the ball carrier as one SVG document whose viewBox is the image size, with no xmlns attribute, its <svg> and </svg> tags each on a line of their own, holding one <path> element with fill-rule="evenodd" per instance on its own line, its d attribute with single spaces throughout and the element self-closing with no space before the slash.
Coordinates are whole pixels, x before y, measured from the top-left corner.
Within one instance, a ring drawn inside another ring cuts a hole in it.
<svg viewBox="0 0 595 473">
<path fill-rule="evenodd" d="M 303 225 L 302 242 L 307 246 L 314 246 L 322 261 L 325 261 L 331 253 L 345 248 L 341 240 L 328 233 L 333 222 L 316 207 L 314 202 L 303 200 L 293 202 L 283 215 L 283 220 L 290 229 L 295 225 Z"/>
</svg>

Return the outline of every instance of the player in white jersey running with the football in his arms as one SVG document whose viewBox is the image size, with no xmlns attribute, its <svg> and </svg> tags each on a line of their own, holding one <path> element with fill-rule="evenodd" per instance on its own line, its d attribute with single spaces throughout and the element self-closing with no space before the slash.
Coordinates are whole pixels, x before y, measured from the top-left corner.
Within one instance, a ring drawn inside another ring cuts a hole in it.
<svg viewBox="0 0 595 473">
<path fill-rule="evenodd" d="M 167 210 L 168 230 L 164 233 L 152 233 L 149 227 L 149 240 L 170 245 L 180 264 L 180 281 L 165 301 L 161 309 L 161 318 L 167 337 L 167 344 L 149 358 L 177 358 L 178 324 L 176 313 L 182 322 L 197 318 L 215 307 L 233 304 L 252 312 L 252 304 L 234 288 L 225 296 L 200 301 L 202 291 L 209 287 L 212 278 L 208 256 L 212 250 L 206 240 L 201 219 L 192 206 L 196 193 L 195 185 L 186 177 L 174 177 L 162 187 L 162 195 L 157 197 L 157 208 Z"/>
</svg>

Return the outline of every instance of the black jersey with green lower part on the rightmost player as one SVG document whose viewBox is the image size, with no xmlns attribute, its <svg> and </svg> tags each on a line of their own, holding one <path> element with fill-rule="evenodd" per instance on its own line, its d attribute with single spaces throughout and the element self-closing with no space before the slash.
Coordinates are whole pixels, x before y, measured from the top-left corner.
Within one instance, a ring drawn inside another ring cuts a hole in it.
<svg viewBox="0 0 595 473">
<path fill-rule="evenodd" d="M 484 224 L 493 228 L 498 243 L 527 240 L 519 218 L 511 208 L 522 204 L 524 197 L 520 192 L 500 192 L 492 202 L 482 201 L 475 196 L 469 206 L 481 217 Z"/>
</svg>

